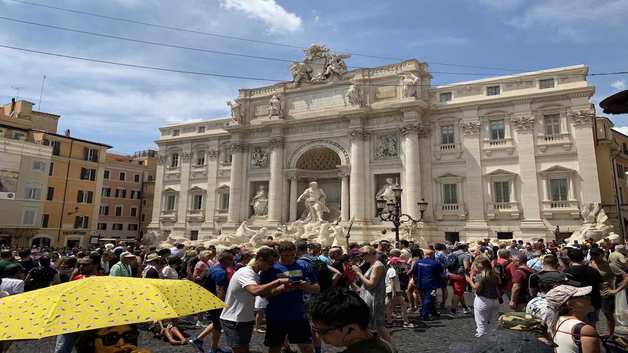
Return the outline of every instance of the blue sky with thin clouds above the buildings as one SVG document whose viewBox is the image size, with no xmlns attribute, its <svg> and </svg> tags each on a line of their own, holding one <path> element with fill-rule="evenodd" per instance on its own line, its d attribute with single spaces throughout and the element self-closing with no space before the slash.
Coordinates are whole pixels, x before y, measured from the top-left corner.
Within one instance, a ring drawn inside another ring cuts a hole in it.
<svg viewBox="0 0 628 353">
<path fill-rule="evenodd" d="M 24 0 L 26 1 L 26 0 Z M 325 44 L 357 53 L 354 67 L 417 58 L 430 64 L 432 84 L 450 84 L 568 65 L 590 73 L 628 70 L 625 0 L 28 0 L 75 11 L 305 48 Z M 290 80 L 288 62 L 185 50 L 85 33 L 281 60 L 302 60 L 299 48 L 168 30 L 0 0 L 0 45 L 158 68 Z M 9 18 L 9 19 L 6 19 Z M 400 59 L 400 60 L 393 60 Z M 453 65 L 487 68 L 470 68 Z M 510 69 L 510 70 L 498 70 Z M 447 73 L 436 73 L 447 72 Z M 482 73 L 484 75 L 465 75 Z M 43 97 L 40 90 L 46 75 Z M 627 89 L 628 75 L 588 77 L 597 103 Z M 154 148 L 158 127 L 229 116 L 238 89 L 273 82 L 120 67 L 0 47 L 0 102 L 36 103 L 59 114 L 58 131 L 133 153 Z M 628 133 L 628 114 L 610 116 Z"/>
</svg>

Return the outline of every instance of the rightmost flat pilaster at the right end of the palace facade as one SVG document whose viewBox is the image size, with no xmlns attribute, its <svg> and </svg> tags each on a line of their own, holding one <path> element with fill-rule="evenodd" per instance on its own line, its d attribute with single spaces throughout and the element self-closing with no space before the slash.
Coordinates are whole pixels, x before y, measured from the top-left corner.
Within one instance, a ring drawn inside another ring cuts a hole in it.
<svg viewBox="0 0 628 353">
<path fill-rule="evenodd" d="M 595 160 L 594 135 L 591 133 L 591 125 L 595 119 L 595 111 L 579 111 L 571 113 L 573 135 L 578 149 L 578 173 L 582 179 L 582 203 L 593 202 L 598 204 L 600 200 L 600 183 L 598 181 L 597 161 Z M 613 170 L 613 173 L 616 173 Z"/>
</svg>

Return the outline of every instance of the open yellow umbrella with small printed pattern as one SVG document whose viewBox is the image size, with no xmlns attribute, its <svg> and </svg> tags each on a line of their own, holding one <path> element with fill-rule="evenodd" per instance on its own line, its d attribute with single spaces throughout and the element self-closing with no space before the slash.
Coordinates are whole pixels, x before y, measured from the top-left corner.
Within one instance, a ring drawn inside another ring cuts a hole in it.
<svg viewBox="0 0 628 353">
<path fill-rule="evenodd" d="M 225 307 L 188 280 L 91 276 L 0 299 L 0 340 L 41 339 Z"/>
</svg>

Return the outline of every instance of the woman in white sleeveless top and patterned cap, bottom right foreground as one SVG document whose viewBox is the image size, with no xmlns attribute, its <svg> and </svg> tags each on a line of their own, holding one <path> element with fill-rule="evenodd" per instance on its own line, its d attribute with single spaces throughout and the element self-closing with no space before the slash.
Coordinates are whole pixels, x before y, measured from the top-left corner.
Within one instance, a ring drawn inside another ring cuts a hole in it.
<svg viewBox="0 0 628 353">
<path fill-rule="evenodd" d="M 591 286 L 560 285 L 545 296 L 549 304 L 558 308 L 549 327 L 558 345 L 556 353 L 605 353 L 595 327 L 583 321 L 587 313 L 595 310 L 587 296 L 591 290 Z"/>
</svg>

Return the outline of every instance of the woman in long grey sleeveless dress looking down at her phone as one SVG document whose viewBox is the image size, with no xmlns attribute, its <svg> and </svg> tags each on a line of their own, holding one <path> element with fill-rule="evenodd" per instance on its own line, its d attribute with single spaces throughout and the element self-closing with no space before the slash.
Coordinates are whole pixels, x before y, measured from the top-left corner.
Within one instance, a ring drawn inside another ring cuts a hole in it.
<svg viewBox="0 0 628 353">
<path fill-rule="evenodd" d="M 377 251 L 372 246 L 360 247 L 360 254 L 365 263 L 369 264 L 369 269 L 362 274 L 358 266 L 352 268 L 362 281 L 360 298 L 369 306 L 369 328 L 377 330 L 379 337 L 391 342 L 391 335 L 386 329 L 386 266 L 377 261 Z"/>
</svg>

